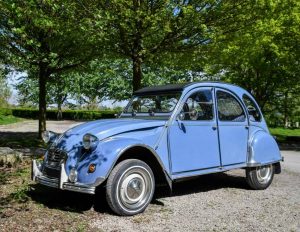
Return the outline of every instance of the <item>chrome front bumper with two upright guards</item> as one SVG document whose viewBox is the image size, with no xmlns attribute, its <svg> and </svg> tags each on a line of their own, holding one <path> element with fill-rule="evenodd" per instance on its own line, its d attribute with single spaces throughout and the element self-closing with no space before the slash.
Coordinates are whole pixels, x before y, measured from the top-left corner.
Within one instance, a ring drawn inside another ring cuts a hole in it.
<svg viewBox="0 0 300 232">
<path fill-rule="evenodd" d="M 80 192 L 80 193 L 87 193 L 87 194 L 95 194 L 96 187 L 85 185 L 82 183 L 71 183 L 68 181 L 68 176 L 65 171 L 64 164 L 61 165 L 61 171 L 60 171 L 60 179 L 56 178 L 49 178 L 40 171 L 36 160 L 32 161 L 32 180 L 36 181 L 37 183 L 40 183 L 42 185 L 62 189 L 62 190 L 69 190 L 74 192 Z"/>
</svg>

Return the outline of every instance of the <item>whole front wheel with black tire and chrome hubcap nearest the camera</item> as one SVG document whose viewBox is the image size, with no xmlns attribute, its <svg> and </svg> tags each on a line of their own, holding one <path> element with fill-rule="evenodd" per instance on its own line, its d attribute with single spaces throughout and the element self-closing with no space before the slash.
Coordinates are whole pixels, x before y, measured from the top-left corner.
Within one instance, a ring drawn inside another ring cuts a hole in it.
<svg viewBox="0 0 300 232">
<path fill-rule="evenodd" d="M 152 200 L 155 179 L 151 168 L 143 161 L 128 159 L 110 173 L 106 185 L 106 200 L 118 215 L 131 216 L 143 212 Z"/>
</svg>

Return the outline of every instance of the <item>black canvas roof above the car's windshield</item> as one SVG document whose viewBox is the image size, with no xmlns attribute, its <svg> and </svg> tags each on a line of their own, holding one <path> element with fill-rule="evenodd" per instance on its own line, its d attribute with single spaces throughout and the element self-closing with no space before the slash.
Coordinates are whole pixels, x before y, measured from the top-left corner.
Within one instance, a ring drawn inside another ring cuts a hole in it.
<svg viewBox="0 0 300 232">
<path fill-rule="evenodd" d="M 134 95 L 146 95 L 146 94 L 157 94 L 157 93 L 169 93 L 169 92 L 181 92 L 185 87 L 193 83 L 181 83 L 181 84 L 169 84 L 169 85 L 157 85 L 149 86 L 139 89 L 134 92 Z"/>
</svg>

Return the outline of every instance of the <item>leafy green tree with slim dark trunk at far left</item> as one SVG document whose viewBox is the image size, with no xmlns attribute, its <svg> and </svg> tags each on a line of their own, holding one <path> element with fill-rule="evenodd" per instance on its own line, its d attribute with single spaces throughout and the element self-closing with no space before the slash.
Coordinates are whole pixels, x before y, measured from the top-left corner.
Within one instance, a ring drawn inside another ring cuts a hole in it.
<svg viewBox="0 0 300 232">
<path fill-rule="evenodd" d="M 39 135 L 46 129 L 46 83 L 97 55 L 93 22 L 66 0 L 0 0 L 0 54 L 39 81 Z M 98 35 L 99 37 L 99 35 Z"/>
</svg>

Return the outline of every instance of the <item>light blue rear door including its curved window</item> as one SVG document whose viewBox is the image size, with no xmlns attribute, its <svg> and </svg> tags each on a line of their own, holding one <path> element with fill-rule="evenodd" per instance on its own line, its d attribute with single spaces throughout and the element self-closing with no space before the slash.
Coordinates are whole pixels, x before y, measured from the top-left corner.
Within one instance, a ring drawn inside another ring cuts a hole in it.
<svg viewBox="0 0 300 232">
<path fill-rule="evenodd" d="M 230 92 L 216 89 L 222 166 L 246 162 L 248 120 L 242 104 Z"/>
</svg>

